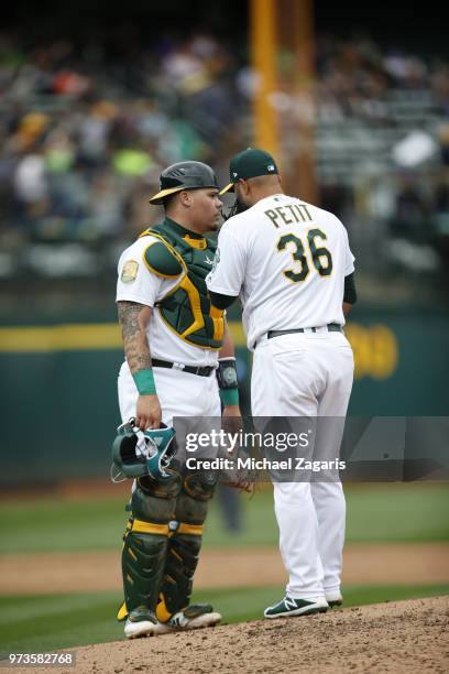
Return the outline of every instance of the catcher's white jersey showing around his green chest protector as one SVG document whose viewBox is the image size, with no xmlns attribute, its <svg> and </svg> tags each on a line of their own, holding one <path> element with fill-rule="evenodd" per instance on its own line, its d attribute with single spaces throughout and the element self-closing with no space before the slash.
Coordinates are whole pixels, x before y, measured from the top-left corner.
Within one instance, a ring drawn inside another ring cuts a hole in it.
<svg viewBox="0 0 449 674">
<path fill-rule="evenodd" d="M 182 280 L 184 272 L 175 279 L 163 279 L 146 267 L 144 253 L 149 246 L 160 239 L 145 236 L 132 243 L 120 257 L 116 301 L 138 302 L 155 307 L 156 303 L 172 291 Z M 184 365 L 216 366 L 217 354 L 210 349 L 194 347 L 180 339 L 162 319 L 154 308 L 146 331 L 153 358 Z"/>
</svg>

